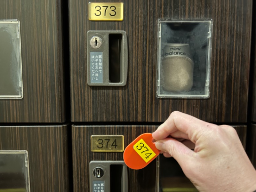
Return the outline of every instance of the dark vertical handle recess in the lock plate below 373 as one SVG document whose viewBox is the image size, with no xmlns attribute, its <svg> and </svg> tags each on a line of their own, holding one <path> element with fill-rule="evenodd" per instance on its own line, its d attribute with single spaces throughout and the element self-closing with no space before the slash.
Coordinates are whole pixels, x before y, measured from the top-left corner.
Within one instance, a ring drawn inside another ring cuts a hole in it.
<svg viewBox="0 0 256 192">
<path fill-rule="evenodd" d="M 121 48 L 122 34 L 109 34 L 109 82 L 120 83 L 121 81 Z"/>
</svg>

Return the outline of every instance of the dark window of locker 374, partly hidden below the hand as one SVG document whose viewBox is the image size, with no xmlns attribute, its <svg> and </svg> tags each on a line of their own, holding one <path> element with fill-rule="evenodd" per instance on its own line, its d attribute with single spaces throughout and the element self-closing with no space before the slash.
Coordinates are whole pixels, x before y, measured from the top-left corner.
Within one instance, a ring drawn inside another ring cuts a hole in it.
<svg viewBox="0 0 256 192">
<path fill-rule="evenodd" d="M 198 192 L 174 158 L 160 154 L 158 163 L 157 192 Z"/>
</svg>

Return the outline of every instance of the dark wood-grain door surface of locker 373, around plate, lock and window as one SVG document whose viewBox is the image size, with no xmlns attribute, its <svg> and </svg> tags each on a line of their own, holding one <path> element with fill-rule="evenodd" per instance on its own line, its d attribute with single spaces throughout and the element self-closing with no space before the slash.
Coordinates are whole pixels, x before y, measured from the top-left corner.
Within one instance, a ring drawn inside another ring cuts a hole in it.
<svg viewBox="0 0 256 192">
<path fill-rule="evenodd" d="M 69 1 L 72 121 L 163 122 L 174 110 L 209 122 L 247 121 L 252 0 L 114 0 L 124 2 L 123 21 L 89 21 L 88 2 Z M 158 19 L 212 19 L 209 99 L 156 97 Z M 126 31 L 126 86 L 88 86 L 88 30 Z"/>
</svg>

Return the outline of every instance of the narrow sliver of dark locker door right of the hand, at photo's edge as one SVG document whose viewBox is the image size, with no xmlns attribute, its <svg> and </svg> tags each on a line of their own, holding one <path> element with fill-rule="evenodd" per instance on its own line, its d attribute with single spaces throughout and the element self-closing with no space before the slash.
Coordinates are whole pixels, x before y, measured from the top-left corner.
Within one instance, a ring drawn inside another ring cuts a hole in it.
<svg viewBox="0 0 256 192">
<path fill-rule="evenodd" d="M 256 169 L 256 125 L 252 124 L 250 130 L 248 129 L 248 146 L 249 151 L 247 151 L 254 168 Z"/>
</svg>

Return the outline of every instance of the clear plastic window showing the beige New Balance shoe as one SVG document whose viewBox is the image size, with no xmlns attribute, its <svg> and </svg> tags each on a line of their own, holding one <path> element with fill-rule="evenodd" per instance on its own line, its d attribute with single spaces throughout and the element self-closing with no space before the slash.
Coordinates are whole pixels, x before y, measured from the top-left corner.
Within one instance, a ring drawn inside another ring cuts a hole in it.
<svg viewBox="0 0 256 192">
<path fill-rule="evenodd" d="M 212 20 L 158 20 L 158 98 L 209 98 Z"/>
</svg>

